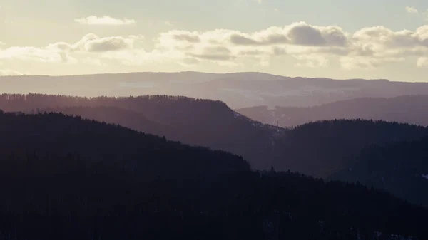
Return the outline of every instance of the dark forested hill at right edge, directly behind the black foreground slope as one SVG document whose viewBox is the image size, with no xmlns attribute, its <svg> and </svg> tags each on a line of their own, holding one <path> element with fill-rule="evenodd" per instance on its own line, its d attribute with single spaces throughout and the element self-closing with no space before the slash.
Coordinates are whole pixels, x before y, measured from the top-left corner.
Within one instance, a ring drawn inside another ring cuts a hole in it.
<svg viewBox="0 0 428 240">
<path fill-rule="evenodd" d="M 330 179 L 387 189 L 397 197 L 428 206 L 428 138 L 367 147 Z"/>
</svg>

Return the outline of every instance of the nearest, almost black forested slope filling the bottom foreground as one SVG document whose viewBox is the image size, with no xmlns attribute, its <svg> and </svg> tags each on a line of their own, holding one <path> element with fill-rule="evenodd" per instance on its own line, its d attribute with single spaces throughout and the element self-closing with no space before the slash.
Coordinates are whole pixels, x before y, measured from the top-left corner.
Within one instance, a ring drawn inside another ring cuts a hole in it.
<svg viewBox="0 0 428 240">
<path fill-rule="evenodd" d="M 428 238 L 427 209 L 117 125 L 0 113 L 0 239 Z"/>
</svg>

